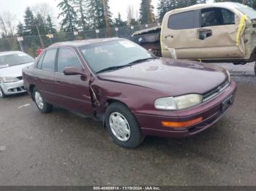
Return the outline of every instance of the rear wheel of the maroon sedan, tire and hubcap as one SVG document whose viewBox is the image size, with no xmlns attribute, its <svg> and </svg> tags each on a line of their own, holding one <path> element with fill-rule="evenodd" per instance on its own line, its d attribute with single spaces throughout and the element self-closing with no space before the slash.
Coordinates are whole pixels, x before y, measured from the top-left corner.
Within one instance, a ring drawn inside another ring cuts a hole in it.
<svg viewBox="0 0 256 191">
<path fill-rule="evenodd" d="M 48 104 L 44 100 L 44 98 L 42 98 L 42 95 L 39 93 L 39 90 L 37 90 L 36 87 L 34 87 L 34 90 L 33 90 L 33 98 L 34 98 L 34 102 L 37 105 L 37 108 L 43 114 L 47 114 L 53 111 L 53 105 Z"/>
</svg>

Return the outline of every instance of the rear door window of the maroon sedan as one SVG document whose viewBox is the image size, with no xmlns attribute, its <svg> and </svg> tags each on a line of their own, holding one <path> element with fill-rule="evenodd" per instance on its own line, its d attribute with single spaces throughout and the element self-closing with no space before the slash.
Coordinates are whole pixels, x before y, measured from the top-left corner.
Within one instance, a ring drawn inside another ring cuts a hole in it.
<svg viewBox="0 0 256 191">
<path fill-rule="evenodd" d="M 54 71 L 56 58 L 56 49 L 47 50 L 45 57 L 42 61 L 42 70 Z"/>
</svg>

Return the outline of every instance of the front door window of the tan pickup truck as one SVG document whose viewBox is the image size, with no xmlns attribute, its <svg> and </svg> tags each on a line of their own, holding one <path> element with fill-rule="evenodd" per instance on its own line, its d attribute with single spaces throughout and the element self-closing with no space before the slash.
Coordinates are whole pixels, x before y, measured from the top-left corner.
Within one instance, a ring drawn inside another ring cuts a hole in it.
<svg viewBox="0 0 256 191">
<path fill-rule="evenodd" d="M 201 11 L 201 27 L 235 24 L 235 14 L 227 9 L 209 8 Z"/>
</svg>

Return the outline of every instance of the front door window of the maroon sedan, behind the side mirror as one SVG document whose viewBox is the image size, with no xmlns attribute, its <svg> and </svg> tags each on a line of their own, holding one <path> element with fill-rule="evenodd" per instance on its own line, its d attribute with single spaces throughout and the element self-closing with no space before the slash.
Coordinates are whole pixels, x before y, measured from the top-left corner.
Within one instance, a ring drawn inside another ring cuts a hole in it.
<svg viewBox="0 0 256 191">
<path fill-rule="evenodd" d="M 58 58 L 58 71 L 63 73 L 64 69 L 67 67 L 77 67 L 78 69 L 83 69 L 76 53 L 69 48 L 59 49 Z"/>
</svg>

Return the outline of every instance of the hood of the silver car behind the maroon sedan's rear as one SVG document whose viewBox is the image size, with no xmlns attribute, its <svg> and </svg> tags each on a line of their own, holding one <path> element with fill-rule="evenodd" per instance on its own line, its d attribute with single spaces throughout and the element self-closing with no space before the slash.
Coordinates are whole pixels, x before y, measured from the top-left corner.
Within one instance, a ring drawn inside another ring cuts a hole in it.
<svg viewBox="0 0 256 191">
<path fill-rule="evenodd" d="M 22 69 L 26 66 L 32 65 L 33 63 L 24 63 L 17 66 L 1 68 L 0 77 L 22 77 Z"/>
</svg>

